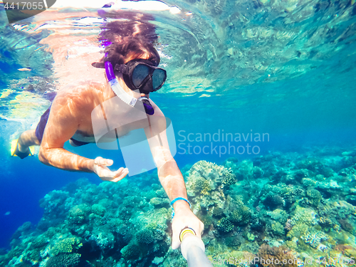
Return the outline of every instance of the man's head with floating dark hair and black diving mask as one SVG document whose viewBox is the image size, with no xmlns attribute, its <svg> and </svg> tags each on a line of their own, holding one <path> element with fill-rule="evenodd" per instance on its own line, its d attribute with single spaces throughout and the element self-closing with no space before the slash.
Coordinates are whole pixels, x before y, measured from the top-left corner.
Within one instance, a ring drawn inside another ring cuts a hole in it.
<svg viewBox="0 0 356 267">
<path fill-rule="evenodd" d="M 162 87 L 167 75 L 157 68 L 159 54 L 153 46 L 157 34 L 151 23 L 132 20 L 107 23 L 99 41 L 105 47 L 105 56 L 93 66 L 103 68 L 109 61 L 119 80 L 122 78 L 128 88 L 144 95 Z"/>
</svg>

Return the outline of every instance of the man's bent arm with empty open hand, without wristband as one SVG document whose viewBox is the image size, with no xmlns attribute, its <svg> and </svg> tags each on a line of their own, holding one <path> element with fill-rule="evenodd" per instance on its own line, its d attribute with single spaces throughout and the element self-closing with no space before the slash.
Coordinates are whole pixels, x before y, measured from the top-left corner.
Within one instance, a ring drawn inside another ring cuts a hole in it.
<svg viewBox="0 0 356 267">
<path fill-rule="evenodd" d="M 75 96 L 75 95 L 74 95 Z M 76 99 L 83 98 L 77 95 Z M 91 112 L 80 107 L 73 95 L 58 93 L 51 107 L 46 129 L 43 133 L 38 159 L 44 164 L 58 169 L 70 171 L 95 172 L 100 179 L 117 182 L 124 178 L 128 170 L 124 168 L 112 172 L 108 166 L 112 165 L 111 159 L 88 159 L 75 155 L 63 148 L 64 143 L 72 137 L 80 124 L 81 114 Z"/>
</svg>

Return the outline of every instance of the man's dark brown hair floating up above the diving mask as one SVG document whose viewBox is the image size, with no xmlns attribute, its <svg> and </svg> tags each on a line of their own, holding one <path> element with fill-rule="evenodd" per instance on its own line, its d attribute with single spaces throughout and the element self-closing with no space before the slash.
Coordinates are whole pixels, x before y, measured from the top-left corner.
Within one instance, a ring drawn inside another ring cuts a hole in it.
<svg viewBox="0 0 356 267">
<path fill-rule="evenodd" d="M 159 54 L 154 47 L 158 38 L 155 26 L 142 18 L 137 20 L 137 14 L 130 15 L 128 19 L 112 21 L 102 27 L 98 40 L 105 47 L 105 56 L 100 63 L 93 63 L 93 66 L 103 68 L 105 61 L 110 61 L 112 66 L 123 64 L 129 53 L 134 53 L 137 57 L 147 53 L 148 59 L 158 65 Z M 132 18 L 134 15 L 136 16 Z"/>
</svg>

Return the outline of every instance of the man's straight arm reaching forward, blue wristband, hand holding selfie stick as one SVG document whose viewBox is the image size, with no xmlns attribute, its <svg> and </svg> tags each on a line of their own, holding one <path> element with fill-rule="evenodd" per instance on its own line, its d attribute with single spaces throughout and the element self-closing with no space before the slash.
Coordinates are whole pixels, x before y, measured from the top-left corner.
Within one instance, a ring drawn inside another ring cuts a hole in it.
<svg viewBox="0 0 356 267">
<path fill-rule="evenodd" d="M 157 107 L 157 106 L 156 106 Z M 166 135 L 166 120 L 159 108 L 155 107 L 155 115 L 148 117 L 149 127 L 145 129 L 147 140 L 150 145 L 153 159 L 157 165 L 159 182 L 169 200 L 177 197 L 187 199 L 182 172 L 180 172 L 177 162 L 171 155 Z M 180 245 L 179 234 L 182 229 L 190 227 L 194 229 L 197 236 L 201 236 L 204 231 L 204 224 L 193 214 L 187 201 L 178 200 L 173 204 L 174 218 L 172 221 L 172 248 Z"/>
</svg>

